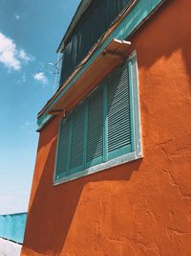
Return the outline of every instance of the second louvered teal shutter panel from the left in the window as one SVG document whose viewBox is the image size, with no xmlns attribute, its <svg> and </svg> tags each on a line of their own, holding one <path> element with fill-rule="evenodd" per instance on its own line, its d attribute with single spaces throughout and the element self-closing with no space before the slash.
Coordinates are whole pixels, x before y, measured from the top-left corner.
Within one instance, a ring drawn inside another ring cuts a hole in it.
<svg viewBox="0 0 191 256">
<path fill-rule="evenodd" d="M 83 167 L 85 106 L 81 105 L 73 114 L 72 144 L 70 152 L 70 172 Z"/>
</svg>

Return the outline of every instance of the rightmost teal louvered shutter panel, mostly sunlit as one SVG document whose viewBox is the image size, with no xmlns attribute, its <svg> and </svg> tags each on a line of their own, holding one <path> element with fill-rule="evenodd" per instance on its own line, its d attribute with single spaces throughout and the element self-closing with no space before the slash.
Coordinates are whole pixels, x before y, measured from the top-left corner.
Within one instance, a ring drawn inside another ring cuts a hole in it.
<svg viewBox="0 0 191 256">
<path fill-rule="evenodd" d="M 127 63 L 107 83 L 108 156 L 131 149 L 130 92 Z"/>
</svg>

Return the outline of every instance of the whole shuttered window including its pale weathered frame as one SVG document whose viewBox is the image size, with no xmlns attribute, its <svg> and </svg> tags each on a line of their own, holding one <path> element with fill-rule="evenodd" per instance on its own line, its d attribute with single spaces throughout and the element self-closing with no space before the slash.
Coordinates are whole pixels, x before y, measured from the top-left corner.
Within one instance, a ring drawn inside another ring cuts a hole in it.
<svg viewBox="0 0 191 256">
<path fill-rule="evenodd" d="M 61 121 L 54 184 L 140 156 L 137 58 L 133 53 Z"/>
</svg>

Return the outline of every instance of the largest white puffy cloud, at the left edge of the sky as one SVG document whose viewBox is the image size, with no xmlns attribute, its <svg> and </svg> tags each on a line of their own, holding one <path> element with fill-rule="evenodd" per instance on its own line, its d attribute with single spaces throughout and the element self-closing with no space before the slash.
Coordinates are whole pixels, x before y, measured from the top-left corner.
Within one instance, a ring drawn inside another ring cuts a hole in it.
<svg viewBox="0 0 191 256">
<path fill-rule="evenodd" d="M 11 38 L 0 32 L 0 62 L 9 70 L 19 70 L 24 62 L 33 60 L 24 49 L 20 49 Z"/>
</svg>

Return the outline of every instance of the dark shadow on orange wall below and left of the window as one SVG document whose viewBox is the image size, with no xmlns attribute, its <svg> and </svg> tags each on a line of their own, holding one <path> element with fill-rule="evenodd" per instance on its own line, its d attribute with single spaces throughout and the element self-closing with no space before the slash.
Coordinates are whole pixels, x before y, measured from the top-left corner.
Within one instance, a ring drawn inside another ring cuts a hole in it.
<svg viewBox="0 0 191 256">
<path fill-rule="evenodd" d="M 84 187 L 91 182 L 128 181 L 132 173 L 138 171 L 141 163 L 140 160 L 131 162 L 128 170 L 127 166 L 120 166 L 117 170 L 108 170 L 53 186 L 55 148 L 54 137 L 29 210 L 23 253 L 32 249 L 42 255 L 49 255 L 51 252 L 51 255 L 60 255 Z"/>
</svg>

